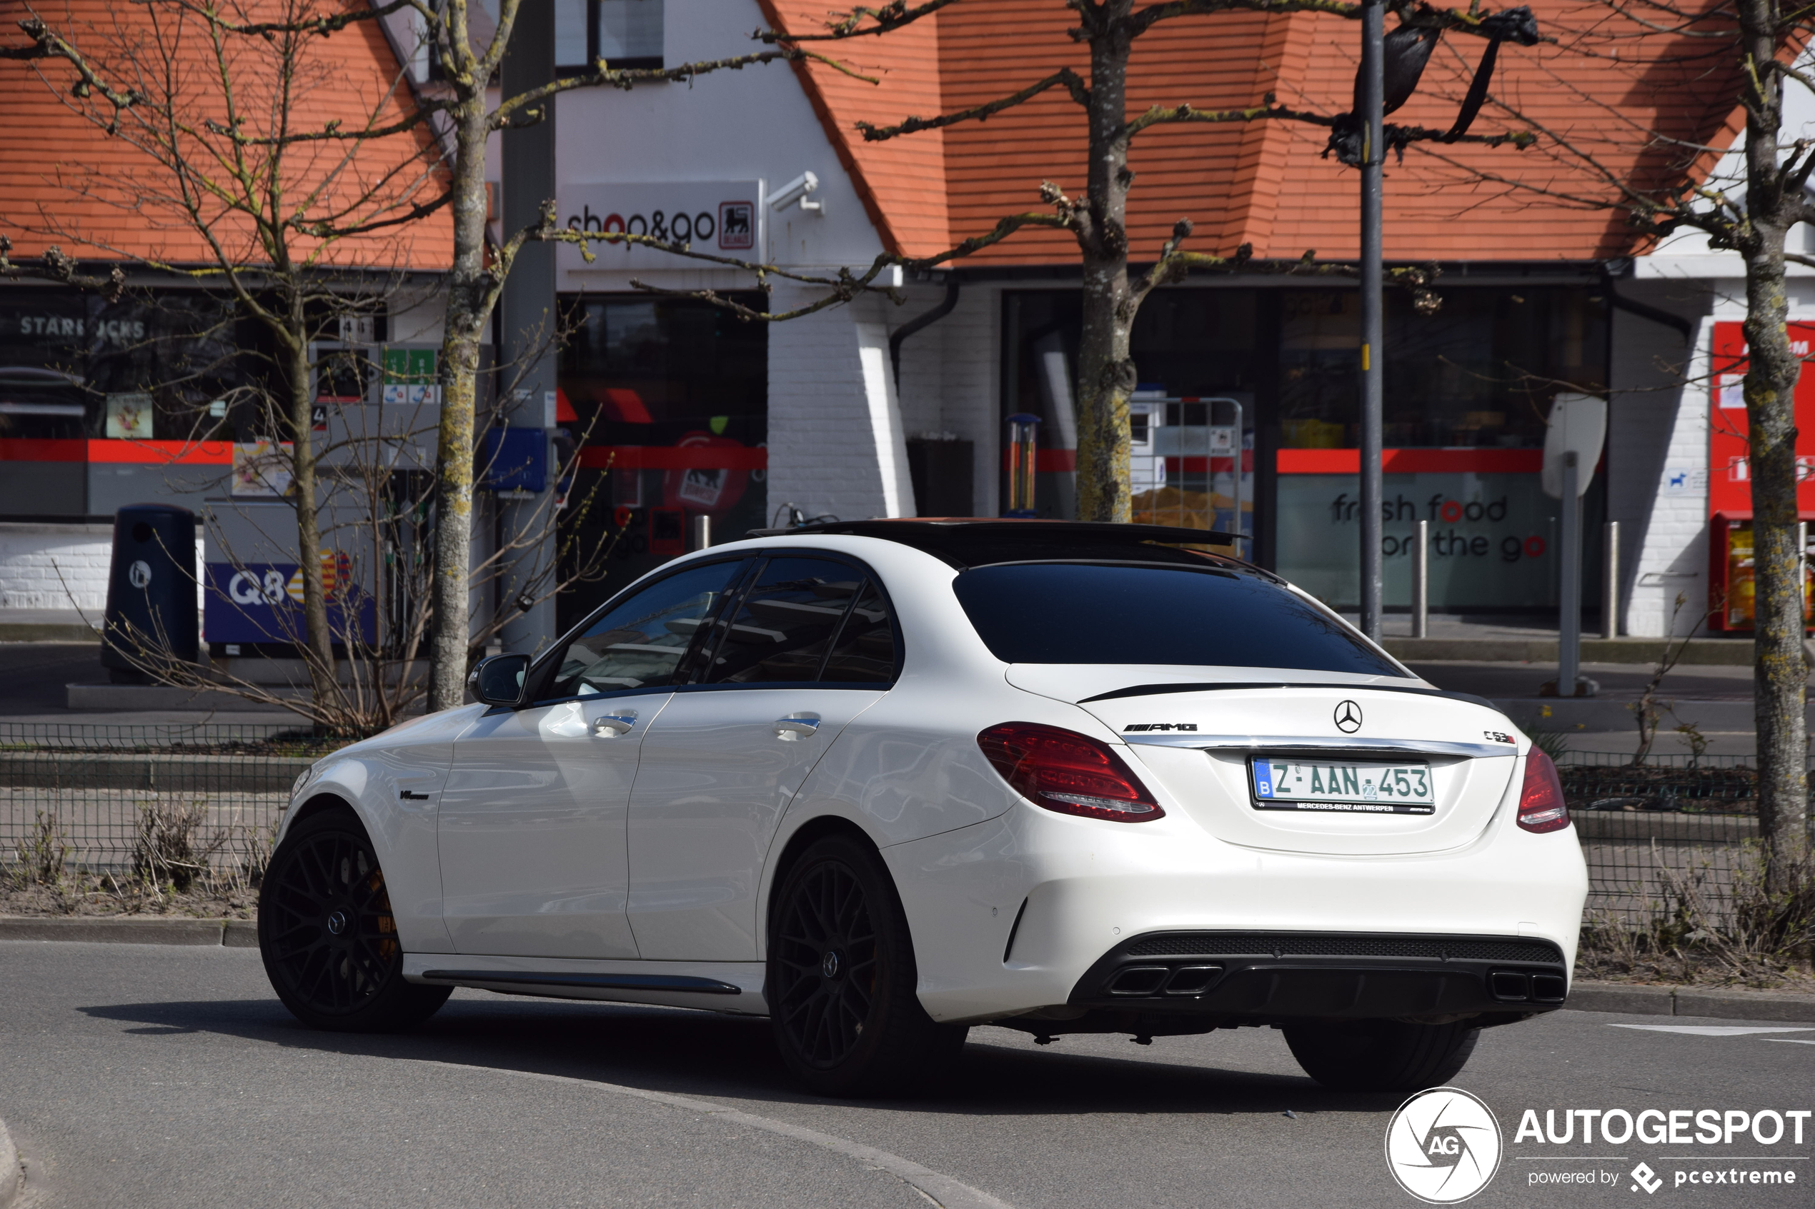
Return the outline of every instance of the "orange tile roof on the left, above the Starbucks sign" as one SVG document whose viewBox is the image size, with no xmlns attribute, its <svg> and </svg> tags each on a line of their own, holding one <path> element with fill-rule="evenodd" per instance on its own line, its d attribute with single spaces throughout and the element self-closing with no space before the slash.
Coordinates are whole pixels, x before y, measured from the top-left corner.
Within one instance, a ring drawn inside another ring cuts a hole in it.
<svg viewBox="0 0 1815 1209">
<path fill-rule="evenodd" d="M 225 5 L 238 20 L 280 18 L 285 13 L 323 15 L 361 0 L 240 0 Z M 22 45 L 18 20 L 34 11 L 71 45 L 96 63 L 102 78 L 145 78 L 152 102 L 174 96 L 172 111 L 189 123 L 221 120 L 225 91 L 205 25 L 178 4 L 111 4 L 107 0 L 0 0 L 0 42 Z M 269 134 L 285 105 L 274 100 L 274 51 L 256 38 L 229 36 L 227 76 L 247 114 L 241 129 Z M 390 125 L 412 112 L 408 85 L 376 22 L 356 22 L 332 36 L 307 36 L 289 103 L 289 129 L 319 131 L 329 121 L 343 129 Z M 169 69 L 169 74 L 165 74 Z M 143 73 L 143 76 L 136 76 Z M 165 87 L 158 80 L 174 80 Z M 15 257 L 31 257 L 56 245 L 80 259 L 212 263 L 198 225 L 176 205 L 176 174 L 143 145 L 134 145 L 134 123 L 123 120 L 118 136 L 105 132 L 113 107 L 94 94 L 71 94 L 74 69 L 62 60 L 0 60 L 0 232 Z M 225 147 L 212 136 L 209 145 Z M 254 152 L 256 154 L 256 152 Z M 189 158 L 201 160 L 200 140 Z M 223 169 L 211 169 L 223 170 Z M 303 201 L 310 216 L 339 212 L 343 221 L 372 221 L 401 214 L 445 189 L 434 140 L 414 131 L 350 145 L 318 141 L 285 152 L 283 196 Z M 310 198 L 314 194 L 314 198 Z M 201 207 L 203 221 L 227 256 L 240 263 L 267 263 L 252 225 L 220 201 Z M 292 256 L 323 265 L 363 268 L 441 270 L 452 259 L 452 219 L 437 210 L 403 223 L 323 247 L 292 236 Z"/>
</svg>

